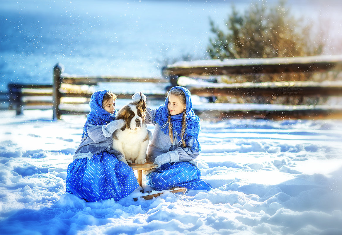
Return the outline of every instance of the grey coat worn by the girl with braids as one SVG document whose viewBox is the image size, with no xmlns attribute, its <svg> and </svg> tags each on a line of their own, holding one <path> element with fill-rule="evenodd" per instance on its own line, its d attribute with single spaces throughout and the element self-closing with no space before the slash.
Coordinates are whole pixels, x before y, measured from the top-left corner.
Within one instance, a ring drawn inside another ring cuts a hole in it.
<svg viewBox="0 0 342 235">
<path fill-rule="evenodd" d="M 194 151 L 191 149 L 195 139 L 189 138 L 187 147 L 182 147 L 182 142 L 178 141 L 176 136 L 179 136 L 179 134 L 175 133 L 173 143 L 171 143 L 170 136 L 164 134 L 161 131 L 161 126 L 154 121 L 155 115 L 156 110 L 147 108 L 145 123 L 153 124 L 156 126 L 153 133 L 153 139 L 150 146 L 148 147 L 147 161 L 154 162 L 157 156 L 166 152 L 169 152 L 171 154 L 171 157 L 175 155 L 174 158 L 178 158 L 180 162 L 191 161 L 197 158 L 197 156 L 199 155 L 199 151 Z M 193 162 L 191 163 L 193 164 Z"/>
</svg>

